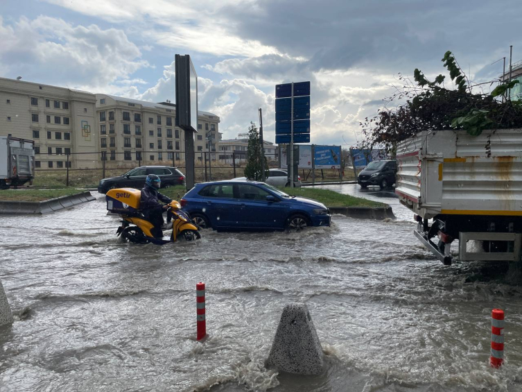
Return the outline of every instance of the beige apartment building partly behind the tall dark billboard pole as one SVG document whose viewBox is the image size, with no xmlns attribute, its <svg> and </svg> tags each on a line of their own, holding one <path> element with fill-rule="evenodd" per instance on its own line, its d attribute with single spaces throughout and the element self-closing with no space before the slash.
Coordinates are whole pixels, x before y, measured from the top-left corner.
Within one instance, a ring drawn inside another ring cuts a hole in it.
<svg viewBox="0 0 522 392">
<path fill-rule="evenodd" d="M 168 101 L 153 103 L 96 94 L 96 133 L 106 160 L 182 164 L 185 135 L 184 130 L 175 126 L 175 109 L 175 105 Z M 203 159 L 202 151 L 209 151 L 209 141 L 210 151 L 217 151 L 218 123 L 219 117 L 215 114 L 198 112 L 198 133 L 194 135 L 197 160 Z M 216 159 L 216 154 L 213 159 Z"/>
</svg>

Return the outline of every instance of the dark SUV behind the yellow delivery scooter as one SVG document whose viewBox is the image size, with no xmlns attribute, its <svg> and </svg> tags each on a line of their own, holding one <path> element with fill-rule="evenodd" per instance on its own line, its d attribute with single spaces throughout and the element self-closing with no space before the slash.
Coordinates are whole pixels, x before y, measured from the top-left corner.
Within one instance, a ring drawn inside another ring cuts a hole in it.
<svg viewBox="0 0 522 392">
<path fill-rule="evenodd" d="M 149 174 L 156 174 L 162 179 L 162 188 L 185 184 L 185 176 L 175 167 L 142 166 L 132 169 L 122 176 L 103 178 L 98 184 L 98 192 L 105 194 L 109 189 L 113 188 L 141 189 L 145 185 L 145 180 Z"/>
</svg>

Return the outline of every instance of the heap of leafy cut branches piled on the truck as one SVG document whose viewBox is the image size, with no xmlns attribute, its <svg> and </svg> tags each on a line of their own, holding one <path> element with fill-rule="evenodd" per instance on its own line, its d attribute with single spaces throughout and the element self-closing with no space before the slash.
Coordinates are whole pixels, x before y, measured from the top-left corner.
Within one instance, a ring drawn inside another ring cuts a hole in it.
<svg viewBox="0 0 522 392">
<path fill-rule="evenodd" d="M 403 85 L 393 86 L 396 92 L 383 99 L 384 108 L 360 123 L 363 139 L 358 148 L 379 146 L 393 152 L 397 142 L 422 130 L 464 129 L 469 135 L 477 136 L 485 129 L 522 127 L 522 102 L 503 98 L 518 80 L 507 83 L 497 78 L 473 84 L 451 51 L 446 51 L 442 61 L 449 71 L 451 87 L 446 87 L 446 76 L 442 74 L 430 81 L 422 71 L 415 69 L 415 83 L 399 74 Z M 491 92 L 484 92 L 485 85 L 494 83 L 501 84 Z M 394 108 L 388 108 L 391 105 Z"/>
</svg>

